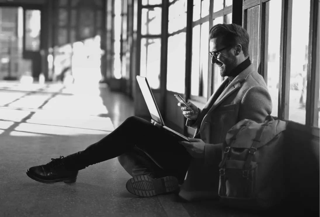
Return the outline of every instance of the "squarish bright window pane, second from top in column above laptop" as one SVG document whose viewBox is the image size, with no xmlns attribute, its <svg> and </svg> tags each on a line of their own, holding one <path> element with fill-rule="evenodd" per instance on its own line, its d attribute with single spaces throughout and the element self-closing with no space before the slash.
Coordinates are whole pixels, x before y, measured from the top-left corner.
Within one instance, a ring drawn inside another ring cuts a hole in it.
<svg viewBox="0 0 320 217">
<path fill-rule="evenodd" d="M 141 34 L 158 35 L 161 34 L 161 12 L 162 8 L 142 8 L 141 14 Z"/>
</svg>

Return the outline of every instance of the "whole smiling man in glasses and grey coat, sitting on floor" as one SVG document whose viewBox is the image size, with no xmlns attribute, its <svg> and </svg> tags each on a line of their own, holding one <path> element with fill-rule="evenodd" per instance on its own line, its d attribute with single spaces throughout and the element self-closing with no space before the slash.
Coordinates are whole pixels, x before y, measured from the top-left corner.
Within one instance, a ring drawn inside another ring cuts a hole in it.
<svg viewBox="0 0 320 217">
<path fill-rule="evenodd" d="M 196 129 L 190 142 L 179 142 L 150 121 L 129 117 L 118 128 L 85 150 L 28 169 L 27 175 L 43 183 L 75 182 L 78 171 L 118 157 L 132 175 L 126 188 L 138 196 L 155 196 L 178 190 L 187 200 L 214 198 L 219 185 L 222 142 L 238 121 L 262 122 L 271 113 L 267 85 L 249 59 L 249 35 L 236 24 L 210 29 L 212 64 L 227 76 L 201 110 L 191 114 L 179 103 L 186 125 Z M 187 174 L 188 171 L 188 174 Z M 187 176 L 186 176 L 187 174 Z"/>
</svg>

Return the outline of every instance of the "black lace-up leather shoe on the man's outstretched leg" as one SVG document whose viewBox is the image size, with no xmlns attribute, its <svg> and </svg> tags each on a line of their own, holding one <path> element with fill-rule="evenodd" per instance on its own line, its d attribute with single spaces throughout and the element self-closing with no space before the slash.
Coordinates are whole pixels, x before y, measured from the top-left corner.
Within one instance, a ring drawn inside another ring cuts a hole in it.
<svg viewBox="0 0 320 217">
<path fill-rule="evenodd" d="M 53 159 L 51 162 L 34 166 L 27 170 L 27 175 L 38 182 L 51 184 L 55 182 L 73 183 L 76 182 L 78 170 L 66 168 L 63 156 Z"/>
</svg>

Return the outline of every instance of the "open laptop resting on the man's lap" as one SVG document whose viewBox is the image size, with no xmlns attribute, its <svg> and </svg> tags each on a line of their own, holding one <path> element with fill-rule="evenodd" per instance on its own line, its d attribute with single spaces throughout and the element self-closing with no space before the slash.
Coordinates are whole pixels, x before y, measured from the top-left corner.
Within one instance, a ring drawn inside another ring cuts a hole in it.
<svg viewBox="0 0 320 217">
<path fill-rule="evenodd" d="M 163 127 L 165 130 L 167 130 L 169 134 L 177 138 L 179 141 L 190 142 L 187 137 L 164 125 L 164 121 L 161 117 L 159 108 L 156 104 L 156 100 L 152 94 L 147 78 L 137 75 L 137 81 L 140 86 L 144 100 L 146 101 L 146 104 L 148 106 L 149 112 L 151 114 L 151 123 L 156 125 L 157 127 Z"/>
</svg>

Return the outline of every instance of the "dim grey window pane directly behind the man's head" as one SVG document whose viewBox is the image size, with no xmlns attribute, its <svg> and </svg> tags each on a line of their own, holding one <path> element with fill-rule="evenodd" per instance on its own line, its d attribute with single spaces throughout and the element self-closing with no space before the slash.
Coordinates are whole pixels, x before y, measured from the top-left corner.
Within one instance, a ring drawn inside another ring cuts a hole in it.
<svg viewBox="0 0 320 217">
<path fill-rule="evenodd" d="M 250 37 L 249 56 L 251 62 L 258 70 L 258 53 L 259 53 L 259 14 L 260 5 L 249 8 L 245 12 L 246 16 L 246 30 Z"/>
</svg>

